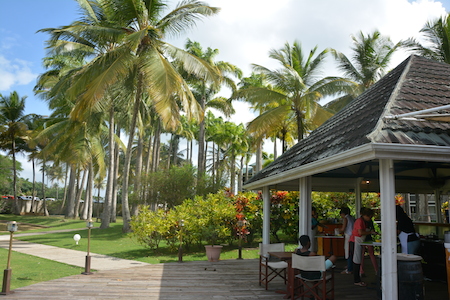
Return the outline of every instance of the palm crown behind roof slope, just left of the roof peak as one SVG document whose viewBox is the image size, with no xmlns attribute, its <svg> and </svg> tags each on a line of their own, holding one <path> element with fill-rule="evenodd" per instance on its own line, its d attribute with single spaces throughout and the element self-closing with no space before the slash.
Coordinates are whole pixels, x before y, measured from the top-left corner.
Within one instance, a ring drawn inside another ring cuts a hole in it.
<svg viewBox="0 0 450 300">
<path fill-rule="evenodd" d="M 381 35 L 378 30 L 367 35 L 359 32 L 357 36 L 352 36 L 352 40 L 353 47 L 351 48 L 352 56 L 350 59 L 341 52 L 331 50 L 338 62 L 338 68 L 344 73 L 344 77 L 355 83 L 351 93 L 325 105 L 334 112 L 339 111 L 383 77 L 387 72 L 393 54 L 402 45 L 401 42 L 394 45 L 389 37 Z"/>
</svg>

